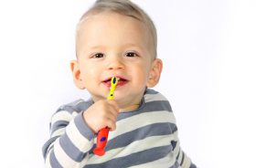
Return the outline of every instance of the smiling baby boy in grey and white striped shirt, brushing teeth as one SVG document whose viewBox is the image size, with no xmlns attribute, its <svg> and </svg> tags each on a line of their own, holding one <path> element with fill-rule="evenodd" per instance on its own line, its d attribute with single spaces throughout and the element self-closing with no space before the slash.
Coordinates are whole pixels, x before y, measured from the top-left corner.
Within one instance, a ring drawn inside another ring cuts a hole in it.
<svg viewBox="0 0 256 168">
<path fill-rule="evenodd" d="M 90 100 L 61 106 L 52 116 L 43 147 L 47 167 L 196 167 L 179 146 L 168 100 L 153 89 L 162 71 L 156 30 L 144 11 L 128 0 L 99 0 L 81 18 L 74 83 Z M 114 100 L 107 100 L 112 77 Z M 92 151 L 95 135 L 111 129 L 106 153 Z"/>
</svg>

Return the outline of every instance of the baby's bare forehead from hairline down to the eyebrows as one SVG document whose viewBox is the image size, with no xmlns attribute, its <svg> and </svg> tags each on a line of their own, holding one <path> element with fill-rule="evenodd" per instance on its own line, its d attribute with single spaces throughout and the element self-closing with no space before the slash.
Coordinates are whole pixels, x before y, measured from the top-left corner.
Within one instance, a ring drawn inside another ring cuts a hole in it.
<svg viewBox="0 0 256 168">
<path fill-rule="evenodd" d="M 132 16 L 102 12 L 85 16 L 78 26 L 77 45 L 108 43 L 109 40 L 134 43 L 147 47 L 147 31 L 144 24 Z"/>
</svg>

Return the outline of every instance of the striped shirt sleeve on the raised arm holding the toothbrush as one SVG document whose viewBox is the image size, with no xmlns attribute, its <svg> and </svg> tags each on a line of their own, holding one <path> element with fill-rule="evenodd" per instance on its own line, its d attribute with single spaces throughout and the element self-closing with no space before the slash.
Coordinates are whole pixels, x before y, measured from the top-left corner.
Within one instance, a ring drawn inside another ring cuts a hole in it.
<svg viewBox="0 0 256 168">
<path fill-rule="evenodd" d="M 60 108 L 52 116 L 50 139 L 43 146 L 46 167 L 80 167 L 86 164 L 95 134 L 83 120 L 82 113 Z"/>
</svg>

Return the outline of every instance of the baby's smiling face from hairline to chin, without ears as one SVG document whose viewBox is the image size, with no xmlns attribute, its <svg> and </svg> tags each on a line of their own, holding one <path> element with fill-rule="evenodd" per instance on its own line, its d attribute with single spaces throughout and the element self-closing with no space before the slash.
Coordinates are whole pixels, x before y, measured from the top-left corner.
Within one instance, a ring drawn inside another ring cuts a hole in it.
<svg viewBox="0 0 256 168">
<path fill-rule="evenodd" d="M 88 89 L 94 101 L 106 99 L 115 76 L 114 100 L 120 107 L 140 103 L 153 63 L 144 24 L 104 12 L 86 18 L 78 31 L 80 88 Z"/>
</svg>

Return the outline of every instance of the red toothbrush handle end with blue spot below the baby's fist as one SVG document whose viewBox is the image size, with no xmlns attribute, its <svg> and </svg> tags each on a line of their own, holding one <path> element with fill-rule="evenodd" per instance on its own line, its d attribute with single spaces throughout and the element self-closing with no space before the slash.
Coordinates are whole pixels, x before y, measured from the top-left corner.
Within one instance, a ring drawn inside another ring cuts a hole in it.
<svg viewBox="0 0 256 168">
<path fill-rule="evenodd" d="M 105 154 L 104 148 L 108 142 L 108 135 L 110 129 L 108 127 L 101 129 L 97 135 L 97 145 L 93 150 L 94 154 L 102 156 Z"/>
</svg>

